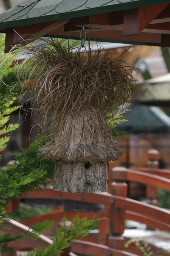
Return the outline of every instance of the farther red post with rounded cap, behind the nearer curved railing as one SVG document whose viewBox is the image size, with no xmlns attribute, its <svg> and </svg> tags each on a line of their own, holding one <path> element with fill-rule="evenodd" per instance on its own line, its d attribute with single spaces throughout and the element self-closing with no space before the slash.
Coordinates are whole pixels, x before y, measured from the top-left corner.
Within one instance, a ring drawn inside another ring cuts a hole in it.
<svg viewBox="0 0 170 256">
<path fill-rule="evenodd" d="M 148 155 L 148 161 L 147 161 L 147 167 L 148 172 L 152 174 L 152 169 L 159 169 L 159 151 L 156 149 L 150 149 L 147 152 Z M 152 205 L 158 204 L 158 188 L 156 186 L 146 186 L 146 197 L 148 199 L 147 203 Z"/>
</svg>

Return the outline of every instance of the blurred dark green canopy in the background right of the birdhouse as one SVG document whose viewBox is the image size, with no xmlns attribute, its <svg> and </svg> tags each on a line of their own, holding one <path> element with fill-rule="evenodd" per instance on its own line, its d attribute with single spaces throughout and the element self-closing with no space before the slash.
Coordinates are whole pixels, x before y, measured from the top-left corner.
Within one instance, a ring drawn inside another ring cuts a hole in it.
<svg viewBox="0 0 170 256">
<path fill-rule="evenodd" d="M 120 131 L 128 131 L 129 134 L 143 134 L 144 138 L 150 140 L 147 133 L 168 133 L 170 132 L 170 117 L 167 116 L 161 109 L 155 106 L 132 105 L 128 104 L 125 108 L 131 109 L 127 112 L 124 118 L 128 121 L 117 125 Z M 123 109 L 125 109 L 123 108 Z M 156 147 L 156 144 L 153 144 Z M 130 163 L 130 143 L 126 140 L 126 162 L 124 163 L 129 168 L 133 163 Z"/>
</svg>

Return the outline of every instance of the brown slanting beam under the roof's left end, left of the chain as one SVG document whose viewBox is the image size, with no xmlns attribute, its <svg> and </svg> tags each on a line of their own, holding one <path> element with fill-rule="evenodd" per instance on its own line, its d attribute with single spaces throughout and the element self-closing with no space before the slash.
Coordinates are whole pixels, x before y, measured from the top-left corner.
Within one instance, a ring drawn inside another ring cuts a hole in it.
<svg viewBox="0 0 170 256">
<path fill-rule="evenodd" d="M 64 26 L 70 20 L 59 20 L 55 22 L 39 23 L 35 26 L 19 26 L 6 29 L 5 53 L 9 52 L 15 44 L 26 45 L 38 38 L 50 34 L 54 29 Z"/>
</svg>

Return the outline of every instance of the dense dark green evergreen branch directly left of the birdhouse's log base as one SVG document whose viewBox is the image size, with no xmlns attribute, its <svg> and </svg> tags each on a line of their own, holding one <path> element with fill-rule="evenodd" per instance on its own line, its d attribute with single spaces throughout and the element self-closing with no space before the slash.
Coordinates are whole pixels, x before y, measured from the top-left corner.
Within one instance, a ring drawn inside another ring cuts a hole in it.
<svg viewBox="0 0 170 256">
<path fill-rule="evenodd" d="M 15 154 L 17 162 L 0 169 L 0 201 L 8 201 L 25 192 L 42 190 L 49 186 L 47 180 L 53 175 L 54 162 L 46 160 L 40 154 L 39 147 L 45 141 L 46 138 L 42 137 L 31 143 L 28 149 L 22 149 L 20 154 Z"/>
</svg>

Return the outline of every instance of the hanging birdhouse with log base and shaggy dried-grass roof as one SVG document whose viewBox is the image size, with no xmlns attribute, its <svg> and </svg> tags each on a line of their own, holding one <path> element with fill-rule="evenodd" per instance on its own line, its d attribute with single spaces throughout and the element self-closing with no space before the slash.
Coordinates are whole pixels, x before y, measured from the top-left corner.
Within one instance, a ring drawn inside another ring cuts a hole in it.
<svg viewBox="0 0 170 256">
<path fill-rule="evenodd" d="M 48 126 L 51 134 L 40 151 L 56 162 L 53 189 L 108 191 L 109 162 L 122 149 L 112 139 L 107 116 L 130 99 L 136 84 L 131 67 L 101 50 L 85 58 L 80 48 L 73 51 L 57 39 L 23 48 L 29 57 L 17 76 L 34 77 L 33 109 L 42 130 Z"/>
</svg>

